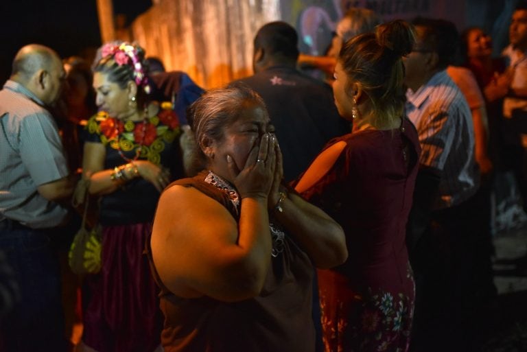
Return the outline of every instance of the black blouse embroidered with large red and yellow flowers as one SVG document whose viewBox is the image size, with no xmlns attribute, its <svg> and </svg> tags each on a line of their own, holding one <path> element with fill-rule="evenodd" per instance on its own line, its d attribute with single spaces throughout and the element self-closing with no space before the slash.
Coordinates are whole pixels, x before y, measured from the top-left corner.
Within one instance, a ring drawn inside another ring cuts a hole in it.
<svg viewBox="0 0 527 352">
<path fill-rule="evenodd" d="M 106 148 L 104 169 L 129 161 L 148 160 L 170 170 L 172 179 L 183 176 L 178 145 L 180 128 L 172 104 L 163 103 L 156 116 L 143 121 L 121 121 L 101 111 L 89 119 L 84 140 Z M 134 224 L 151 221 L 159 199 L 151 183 L 134 178 L 124 187 L 102 197 L 101 224 Z"/>
</svg>

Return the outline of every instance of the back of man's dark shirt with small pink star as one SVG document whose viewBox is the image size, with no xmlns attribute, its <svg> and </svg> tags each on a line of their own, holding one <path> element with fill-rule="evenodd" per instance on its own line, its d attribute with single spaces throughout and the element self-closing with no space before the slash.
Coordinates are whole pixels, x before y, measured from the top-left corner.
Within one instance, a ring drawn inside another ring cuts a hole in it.
<svg viewBox="0 0 527 352">
<path fill-rule="evenodd" d="M 285 180 L 305 171 L 329 139 L 349 132 L 329 85 L 296 69 L 270 67 L 241 82 L 266 102 L 283 153 Z"/>
</svg>

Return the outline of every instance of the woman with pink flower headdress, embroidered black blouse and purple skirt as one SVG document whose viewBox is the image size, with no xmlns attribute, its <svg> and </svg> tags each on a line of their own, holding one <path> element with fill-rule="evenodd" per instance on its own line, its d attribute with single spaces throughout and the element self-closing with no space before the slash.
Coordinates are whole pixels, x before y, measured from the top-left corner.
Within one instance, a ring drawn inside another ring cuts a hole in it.
<svg viewBox="0 0 527 352">
<path fill-rule="evenodd" d="M 161 315 L 142 255 L 163 188 L 181 176 L 178 119 L 152 104 L 144 51 L 109 43 L 93 67 L 99 113 L 86 126 L 83 176 L 101 196 L 102 270 L 87 280 L 85 351 L 154 351 Z"/>
</svg>

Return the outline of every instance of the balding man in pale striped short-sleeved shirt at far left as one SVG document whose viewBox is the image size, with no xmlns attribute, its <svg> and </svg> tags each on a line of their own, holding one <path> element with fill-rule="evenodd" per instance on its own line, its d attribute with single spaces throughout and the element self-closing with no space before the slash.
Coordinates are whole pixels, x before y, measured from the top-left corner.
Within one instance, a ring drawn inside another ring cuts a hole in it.
<svg viewBox="0 0 527 352">
<path fill-rule="evenodd" d="M 65 80 L 55 51 L 27 45 L 0 91 L 0 250 L 19 284 L 19 300 L 1 324 L 5 351 L 66 351 L 58 257 L 50 246 L 67 220 L 62 142 L 47 111 Z M 55 230 L 54 230 L 55 229 Z"/>
</svg>

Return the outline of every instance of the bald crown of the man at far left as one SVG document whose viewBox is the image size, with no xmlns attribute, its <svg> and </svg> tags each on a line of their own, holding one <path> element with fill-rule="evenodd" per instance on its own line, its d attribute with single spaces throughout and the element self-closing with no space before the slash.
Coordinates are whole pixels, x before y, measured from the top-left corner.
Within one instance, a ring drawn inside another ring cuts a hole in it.
<svg viewBox="0 0 527 352">
<path fill-rule="evenodd" d="M 49 47 L 38 44 L 26 45 L 14 57 L 11 79 L 26 83 L 38 70 L 49 70 L 56 62 L 60 62 L 60 58 Z"/>
</svg>

